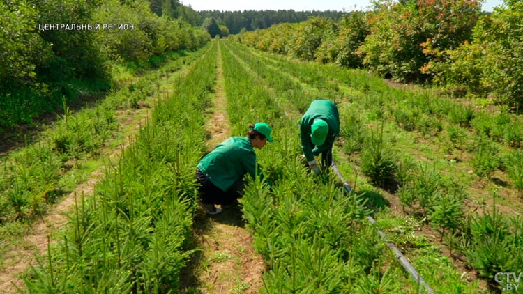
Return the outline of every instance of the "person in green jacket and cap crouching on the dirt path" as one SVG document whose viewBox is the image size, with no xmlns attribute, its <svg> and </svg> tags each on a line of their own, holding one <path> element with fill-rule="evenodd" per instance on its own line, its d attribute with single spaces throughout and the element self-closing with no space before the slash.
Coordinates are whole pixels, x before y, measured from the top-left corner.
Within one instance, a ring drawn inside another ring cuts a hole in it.
<svg viewBox="0 0 523 294">
<path fill-rule="evenodd" d="M 271 127 L 266 123 L 249 126 L 247 137 L 230 137 L 216 146 L 198 163 L 195 178 L 199 183 L 199 204 L 209 215 L 222 212 L 215 204 L 227 206 L 240 198 L 243 192 L 243 176 L 256 172 L 256 153 L 267 141 L 272 142 Z"/>
</svg>

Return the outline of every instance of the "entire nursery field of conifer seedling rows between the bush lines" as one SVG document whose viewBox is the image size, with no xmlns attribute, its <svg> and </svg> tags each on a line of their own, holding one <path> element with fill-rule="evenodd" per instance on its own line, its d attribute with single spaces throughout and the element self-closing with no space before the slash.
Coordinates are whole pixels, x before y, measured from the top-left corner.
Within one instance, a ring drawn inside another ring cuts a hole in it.
<svg viewBox="0 0 523 294">
<path fill-rule="evenodd" d="M 508 109 L 229 40 L 122 72 L 99 105 L 64 105 L 36 144 L 2 155 L 6 293 L 523 291 L 523 119 Z M 298 160 L 317 99 L 340 110 L 334 161 L 351 192 Z M 258 121 L 273 186 L 251 179 L 241 211 L 206 216 L 197 162 Z"/>
</svg>

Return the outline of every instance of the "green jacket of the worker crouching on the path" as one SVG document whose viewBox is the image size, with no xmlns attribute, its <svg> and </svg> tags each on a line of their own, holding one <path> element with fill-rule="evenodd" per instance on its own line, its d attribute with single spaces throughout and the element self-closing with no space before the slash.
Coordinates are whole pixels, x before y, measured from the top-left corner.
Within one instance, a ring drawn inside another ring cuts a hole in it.
<svg viewBox="0 0 523 294">
<path fill-rule="evenodd" d="M 256 175 L 256 153 L 248 137 L 230 137 L 198 163 L 198 169 L 223 192 L 245 173 Z M 260 176 L 261 172 L 258 172 Z"/>
</svg>

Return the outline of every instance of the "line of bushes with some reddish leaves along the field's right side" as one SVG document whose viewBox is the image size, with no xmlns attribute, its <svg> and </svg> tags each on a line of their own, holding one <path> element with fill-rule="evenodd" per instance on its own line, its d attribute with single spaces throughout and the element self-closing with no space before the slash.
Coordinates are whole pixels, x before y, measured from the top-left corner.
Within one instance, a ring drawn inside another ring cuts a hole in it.
<svg viewBox="0 0 523 294">
<path fill-rule="evenodd" d="M 312 17 L 234 37 L 268 52 L 367 68 L 400 82 L 448 86 L 453 95 L 523 107 L 523 2 L 492 13 L 480 0 L 378 1 L 335 21 Z M 466 93 L 466 94 L 463 94 Z"/>
</svg>

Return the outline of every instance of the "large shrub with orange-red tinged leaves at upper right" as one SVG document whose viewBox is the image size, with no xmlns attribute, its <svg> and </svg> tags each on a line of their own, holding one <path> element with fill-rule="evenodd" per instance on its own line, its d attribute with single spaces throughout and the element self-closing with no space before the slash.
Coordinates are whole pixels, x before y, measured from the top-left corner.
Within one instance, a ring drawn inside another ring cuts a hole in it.
<svg viewBox="0 0 523 294">
<path fill-rule="evenodd" d="M 363 63 L 381 75 L 407 81 L 426 79 L 430 61 L 444 59 L 441 52 L 469 39 L 479 12 L 478 1 L 383 4 L 367 18 L 371 33 L 358 52 L 364 56 Z"/>
</svg>

